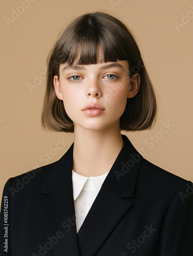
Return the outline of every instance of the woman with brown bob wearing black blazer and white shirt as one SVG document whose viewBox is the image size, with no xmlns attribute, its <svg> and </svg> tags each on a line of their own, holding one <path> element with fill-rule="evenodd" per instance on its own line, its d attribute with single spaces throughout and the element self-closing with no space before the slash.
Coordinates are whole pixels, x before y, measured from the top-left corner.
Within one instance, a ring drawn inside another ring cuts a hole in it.
<svg viewBox="0 0 193 256">
<path fill-rule="evenodd" d="M 106 13 L 76 18 L 49 55 L 42 111 L 42 125 L 74 132 L 74 143 L 57 162 L 6 183 L 1 254 L 192 255 L 192 183 L 121 135 L 150 129 L 156 113 L 131 31 Z"/>
</svg>

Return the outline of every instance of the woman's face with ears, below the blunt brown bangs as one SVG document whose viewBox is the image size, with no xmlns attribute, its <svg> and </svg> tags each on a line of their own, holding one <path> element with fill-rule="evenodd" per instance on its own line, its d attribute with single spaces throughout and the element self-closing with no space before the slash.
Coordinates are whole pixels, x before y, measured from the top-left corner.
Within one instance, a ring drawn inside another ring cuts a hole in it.
<svg viewBox="0 0 193 256">
<path fill-rule="evenodd" d="M 102 130 L 120 122 L 127 98 L 134 97 L 134 83 L 128 75 L 128 61 L 100 62 L 92 65 L 67 63 L 54 77 L 56 95 L 63 100 L 74 129 Z M 136 74 L 137 76 L 138 74 Z M 132 80 L 136 80 L 134 77 Z M 140 78 L 138 79 L 140 83 Z M 133 86 L 132 86 L 133 84 Z M 134 93 L 135 91 L 135 93 Z"/>
</svg>

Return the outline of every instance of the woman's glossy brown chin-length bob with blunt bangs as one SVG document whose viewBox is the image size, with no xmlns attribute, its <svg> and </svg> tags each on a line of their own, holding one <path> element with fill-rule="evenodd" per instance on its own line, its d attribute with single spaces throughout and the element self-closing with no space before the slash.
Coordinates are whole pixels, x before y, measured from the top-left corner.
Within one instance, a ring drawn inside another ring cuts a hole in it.
<svg viewBox="0 0 193 256">
<path fill-rule="evenodd" d="M 62 63 L 90 65 L 97 63 L 98 47 L 104 62 L 127 60 L 129 76 L 138 73 L 141 78 L 137 95 L 128 98 L 120 117 L 120 129 L 141 131 L 150 129 L 156 120 L 157 103 L 151 79 L 134 35 L 119 19 L 103 12 L 83 14 L 63 31 L 48 56 L 47 88 L 41 123 L 49 131 L 74 132 L 73 121 L 67 115 L 63 101 L 58 99 L 53 84 L 59 77 Z M 78 60 L 77 60 L 78 58 Z"/>
</svg>

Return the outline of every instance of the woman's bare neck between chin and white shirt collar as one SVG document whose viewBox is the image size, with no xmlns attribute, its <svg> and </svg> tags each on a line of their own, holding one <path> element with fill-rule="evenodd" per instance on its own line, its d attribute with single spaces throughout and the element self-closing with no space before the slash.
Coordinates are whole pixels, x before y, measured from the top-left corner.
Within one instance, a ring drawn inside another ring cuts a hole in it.
<svg viewBox="0 0 193 256">
<path fill-rule="evenodd" d="M 116 125 L 99 131 L 74 127 L 74 172 L 87 177 L 109 172 L 122 146 L 120 128 Z"/>
</svg>

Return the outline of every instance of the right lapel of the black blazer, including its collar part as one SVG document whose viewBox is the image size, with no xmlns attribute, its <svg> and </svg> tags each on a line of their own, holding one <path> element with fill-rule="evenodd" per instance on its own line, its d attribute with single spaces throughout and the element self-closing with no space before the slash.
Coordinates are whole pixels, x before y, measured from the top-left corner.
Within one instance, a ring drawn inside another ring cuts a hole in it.
<svg viewBox="0 0 193 256">
<path fill-rule="evenodd" d="M 78 231 L 81 256 L 93 256 L 132 205 L 124 198 L 134 196 L 143 158 L 126 136 L 122 138 L 122 150 Z"/>
</svg>

